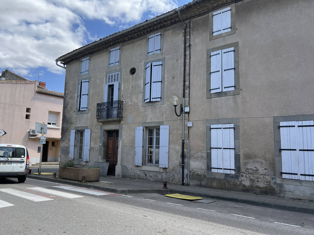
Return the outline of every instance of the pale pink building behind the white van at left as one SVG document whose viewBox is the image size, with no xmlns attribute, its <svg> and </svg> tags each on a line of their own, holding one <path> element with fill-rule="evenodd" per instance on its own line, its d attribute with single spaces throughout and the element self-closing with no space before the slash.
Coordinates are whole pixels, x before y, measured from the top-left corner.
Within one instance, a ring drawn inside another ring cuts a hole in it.
<svg viewBox="0 0 314 235">
<path fill-rule="evenodd" d="M 47 125 L 43 162 L 56 162 L 60 157 L 63 93 L 45 88 L 45 82 L 29 81 L 9 70 L 0 77 L 0 136 L 2 144 L 24 145 L 30 155 L 30 165 L 40 158 L 40 136 L 35 123 Z"/>
</svg>

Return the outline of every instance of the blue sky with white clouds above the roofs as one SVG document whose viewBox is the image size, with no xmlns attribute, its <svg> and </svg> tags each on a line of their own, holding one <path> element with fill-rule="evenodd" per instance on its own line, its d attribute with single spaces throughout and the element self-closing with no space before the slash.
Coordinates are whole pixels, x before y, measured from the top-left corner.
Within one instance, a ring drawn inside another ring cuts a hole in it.
<svg viewBox="0 0 314 235">
<path fill-rule="evenodd" d="M 192 0 L 1 0 L 0 72 L 10 70 L 64 92 L 55 60 Z"/>
</svg>

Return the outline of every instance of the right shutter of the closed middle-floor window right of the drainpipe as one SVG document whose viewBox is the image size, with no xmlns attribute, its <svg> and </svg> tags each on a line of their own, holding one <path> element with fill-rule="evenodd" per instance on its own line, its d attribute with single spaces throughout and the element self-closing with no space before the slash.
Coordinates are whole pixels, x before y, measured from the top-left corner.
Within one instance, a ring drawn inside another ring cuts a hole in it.
<svg viewBox="0 0 314 235">
<path fill-rule="evenodd" d="M 222 56 L 222 91 L 235 89 L 234 48 L 221 50 Z"/>
</svg>

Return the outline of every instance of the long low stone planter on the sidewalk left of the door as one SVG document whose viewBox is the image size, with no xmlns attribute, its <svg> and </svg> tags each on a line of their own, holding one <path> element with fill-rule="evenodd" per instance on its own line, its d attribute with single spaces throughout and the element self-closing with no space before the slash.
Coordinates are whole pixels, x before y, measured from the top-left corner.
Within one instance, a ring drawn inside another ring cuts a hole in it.
<svg viewBox="0 0 314 235">
<path fill-rule="evenodd" d="M 82 181 L 82 176 L 85 176 L 85 181 L 98 181 L 100 168 L 77 168 L 77 167 L 59 167 L 59 177 Z"/>
</svg>

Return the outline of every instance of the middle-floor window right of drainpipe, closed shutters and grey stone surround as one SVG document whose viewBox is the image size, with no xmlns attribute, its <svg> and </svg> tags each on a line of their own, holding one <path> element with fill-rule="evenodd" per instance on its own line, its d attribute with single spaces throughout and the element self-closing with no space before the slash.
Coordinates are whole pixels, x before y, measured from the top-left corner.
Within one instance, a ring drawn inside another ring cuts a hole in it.
<svg viewBox="0 0 314 235">
<path fill-rule="evenodd" d="M 240 94 L 238 42 L 207 50 L 207 98 Z"/>
</svg>

